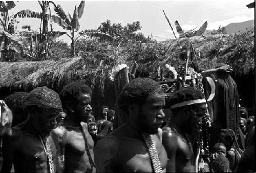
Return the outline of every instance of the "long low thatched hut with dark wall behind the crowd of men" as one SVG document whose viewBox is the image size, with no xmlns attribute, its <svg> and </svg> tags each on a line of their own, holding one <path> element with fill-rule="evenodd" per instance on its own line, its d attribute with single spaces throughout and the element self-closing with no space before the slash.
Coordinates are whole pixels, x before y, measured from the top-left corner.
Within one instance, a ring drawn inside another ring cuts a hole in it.
<svg viewBox="0 0 256 173">
<path fill-rule="evenodd" d="M 181 46 L 188 46 L 190 42 L 195 48 L 195 61 L 199 68 L 212 69 L 219 63 L 228 63 L 233 67 L 232 77 L 238 85 L 240 104 L 248 108 L 250 115 L 254 115 L 254 32 L 217 33 L 179 39 Z M 138 63 L 139 66 L 150 67 L 151 76 L 154 76 L 166 63 L 177 69 L 180 52 L 176 40 L 167 40 L 58 61 L 0 62 L 0 99 L 17 91 L 30 92 L 44 85 L 59 93 L 67 83 L 84 80 L 91 87 L 94 114 L 98 114 L 102 105 L 114 109 L 114 82 L 110 80 L 109 73 L 116 64 L 125 63 L 132 67 Z"/>
</svg>

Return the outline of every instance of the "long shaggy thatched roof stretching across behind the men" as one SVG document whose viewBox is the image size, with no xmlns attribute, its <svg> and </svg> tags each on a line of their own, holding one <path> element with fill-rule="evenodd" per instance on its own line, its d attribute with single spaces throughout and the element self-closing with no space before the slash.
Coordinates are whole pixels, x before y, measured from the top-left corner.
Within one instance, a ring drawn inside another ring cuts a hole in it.
<svg viewBox="0 0 256 173">
<path fill-rule="evenodd" d="M 246 38 L 240 38 L 236 34 L 209 34 L 182 38 L 179 39 L 179 42 L 181 45 L 188 45 L 190 41 L 193 42 L 197 55 L 199 56 L 200 54 L 201 57 L 198 58 L 200 67 L 211 69 L 215 68 L 218 63 L 224 62 L 233 66 L 234 73 L 243 76 L 254 70 L 255 52 L 253 36 L 254 33 L 252 36 L 245 36 Z M 243 41 L 242 44 L 240 43 L 241 41 Z M 176 40 L 142 45 L 142 49 L 148 49 L 149 47 L 155 49 L 156 53 L 151 58 L 140 59 L 140 63 L 150 66 L 153 72 L 157 73 L 157 68 L 159 66 L 165 67 L 166 63 L 176 68 L 179 66 L 178 56 L 180 49 L 177 46 Z M 131 66 L 133 57 L 127 56 L 127 52 L 119 51 L 118 55 L 115 56 L 118 62 Z M 29 91 L 46 85 L 55 89 L 55 91 L 59 91 L 63 85 L 74 80 L 95 80 L 95 77 L 100 77 L 99 75 L 103 75 L 106 78 L 109 76 L 111 68 L 117 62 L 113 63 L 114 60 L 110 61 L 112 57 L 113 55 L 108 55 L 108 58 L 93 55 L 90 58 L 82 56 L 62 58 L 58 61 L 0 62 L 0 89 L 5 87 Z M 102 59 L 106 59 L 107 62 L 102 63 Z M 91 61 L 93 60 L 94 65 L 91 66 Z M 92 76 L 94 76 L 94 79 Z M 95 83 L 98 82 L 91 81 L 91 84 Z"/>
</svg>

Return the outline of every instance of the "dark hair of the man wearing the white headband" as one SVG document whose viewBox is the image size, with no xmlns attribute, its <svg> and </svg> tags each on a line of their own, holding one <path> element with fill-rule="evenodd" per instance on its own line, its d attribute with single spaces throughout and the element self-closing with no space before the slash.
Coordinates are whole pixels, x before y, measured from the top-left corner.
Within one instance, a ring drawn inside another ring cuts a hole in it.
<svg viewBox="0 0 256 173">
<path fill-rule="evenodd" d="M 196 90 L 192 87 L 187 87 L 181 90 L 178 90 L 174 93 L 171 93 L 168 95 L 168 98 L 166 100 L 166 107 L 170 107 L 171 105 L 181 103 L 184 101 L 189 101 L 189 100 L 196 100 L 196 99 L 202 99 L 205 98 L 204 94 L 200 90 Z M 190 105 L 191 107 L 196 107 L 198 104 L 192 104 Z M 172 109 L 173 112 L 180 111 L 183 109 L 184 106 L 182 107 L 177 107 L 175 109 Z"/>
</svg>

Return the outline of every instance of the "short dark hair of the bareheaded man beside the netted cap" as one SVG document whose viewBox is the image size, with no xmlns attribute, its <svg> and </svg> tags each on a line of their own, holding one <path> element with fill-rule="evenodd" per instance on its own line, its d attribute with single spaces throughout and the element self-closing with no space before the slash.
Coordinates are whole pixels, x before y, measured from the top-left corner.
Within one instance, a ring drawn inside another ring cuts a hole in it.
<svg viewBox="0 0 256 173">
<path fill-rule="evenodd" d="M 60 92 L 60 100 L 63 107 L 67 106 L 67 100 L 76 104 L 78 97 L 82 93 L 91 94 L 91 90 L 83 81 L 76 81 L 67 84 Z"/>
</svg>

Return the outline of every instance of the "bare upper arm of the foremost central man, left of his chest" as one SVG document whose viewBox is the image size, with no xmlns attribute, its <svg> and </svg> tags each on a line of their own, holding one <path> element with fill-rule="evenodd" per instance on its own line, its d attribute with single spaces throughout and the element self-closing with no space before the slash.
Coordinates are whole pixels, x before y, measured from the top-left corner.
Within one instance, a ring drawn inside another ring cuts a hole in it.
<svg viewBox="0 0 256 173">
<path fill-rule="evenodd" d="M 114 137 L 101 139 L 94 150 L 96 172 L 114 172 L 118 144 Z"/>
</svg>

